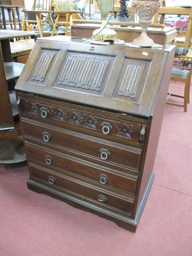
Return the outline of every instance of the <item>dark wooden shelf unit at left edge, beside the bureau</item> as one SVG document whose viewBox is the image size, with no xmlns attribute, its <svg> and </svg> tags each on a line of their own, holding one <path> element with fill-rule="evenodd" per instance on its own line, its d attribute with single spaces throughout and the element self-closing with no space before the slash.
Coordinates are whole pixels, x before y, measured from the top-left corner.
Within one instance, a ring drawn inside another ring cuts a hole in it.
<svg viewBox="0 0 192 256">
<path fill-rule="evenodd" d="M 35 36 L 33 31 L 0 30 L 0 138 L 10 138 L 21 134 L 19 121 L 14 117 L 18 115 L 14 100 L 15 79 L 20 76 L 24 64 L 12 61 L 10 40 L 20 36 Z M 13 101 L 12 101 L 13 100 Z"/>
</svg>

